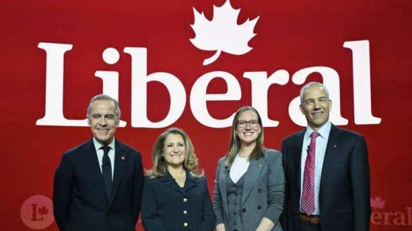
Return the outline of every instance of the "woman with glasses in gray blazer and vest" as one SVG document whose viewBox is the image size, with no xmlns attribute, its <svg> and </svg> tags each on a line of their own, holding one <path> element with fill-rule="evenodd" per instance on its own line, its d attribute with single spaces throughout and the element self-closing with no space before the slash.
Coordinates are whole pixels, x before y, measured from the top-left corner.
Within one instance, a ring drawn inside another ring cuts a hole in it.
<svg viewBox="0 0 412 231">
<path fill-rule="evenodd" d="M 284 184 L 282 154 L 263 146 L 258 111 L 240 108 L 233 119 L 229 151 L 216 171 L 216 231 L 282 230 Z"/>
</svg>

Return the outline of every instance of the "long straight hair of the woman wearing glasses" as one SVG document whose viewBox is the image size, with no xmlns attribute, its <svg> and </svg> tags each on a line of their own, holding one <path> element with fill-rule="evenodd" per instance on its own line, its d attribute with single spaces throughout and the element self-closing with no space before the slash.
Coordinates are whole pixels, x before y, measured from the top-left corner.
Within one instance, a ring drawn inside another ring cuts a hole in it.
<svg viewBox="0 0 412 231">
<path fill-rule="evenodd" d="M 264 149 L 265 147 L 263 146 L 263 125 L 262 125 L 262 119 L 260 119 L 260 114 L 258 110 L 251 106 L 245 106 L 243 108 L 240 108 L 236 114 L 235 117 L 233 117 L 233 123 L 231 127 L 231 138 L 230 138 L 230 143 L 229 143 L 229 150 L 227 151 L 226 154 L 226 161 L 225 161 L 225 166 L 229 166 L 232 164 L 233 160 L 235 160 L 236 156 L 238 155 L 240 151 L 240 138 L 239 136 L 236 135 L 236 125 L 238 124 L 238 119 L 240 117 L 240 114 L 243 112 L 246 112 L 248 110 L 251 110 L 252 112 L 255 112 L 258 115 L 258 123 L 260 125 L 260 134 L 258 134 L 258 138 L 256 138 L 256 146 L 252 150 L 251 154 L 249 155 L 248 160 L 252 159 L 258 159 L 264 155 Z"/>
</svg>

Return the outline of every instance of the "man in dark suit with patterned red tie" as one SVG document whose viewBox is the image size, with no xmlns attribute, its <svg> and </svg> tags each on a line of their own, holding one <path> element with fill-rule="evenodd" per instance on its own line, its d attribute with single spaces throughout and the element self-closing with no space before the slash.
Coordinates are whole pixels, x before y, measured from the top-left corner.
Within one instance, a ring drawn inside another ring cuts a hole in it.
<svg viewBox="0 0 412 231">
<path fill-rule="evenodd" d="M 308 127 L 282 141 L 286 231 L 369 230 L 370 180 L 365 138 L 329 121 L 328 89 L 310 82 L 300 110 Z"/>
</svg>

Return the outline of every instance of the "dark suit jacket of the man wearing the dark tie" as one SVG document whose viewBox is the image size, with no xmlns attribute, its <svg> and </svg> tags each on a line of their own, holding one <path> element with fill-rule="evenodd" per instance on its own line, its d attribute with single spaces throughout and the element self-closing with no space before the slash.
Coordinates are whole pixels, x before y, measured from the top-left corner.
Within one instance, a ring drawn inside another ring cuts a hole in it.
<svg viewBox="0 0 412 231">
<path fill-rule="evenodd" d="M 54 175 L 53 209 L 58 228 L 135 231 L 143 182 L 139 151 L 117 140 L 110 198 L 93 139 L 67 151 Z"/>
</svg>

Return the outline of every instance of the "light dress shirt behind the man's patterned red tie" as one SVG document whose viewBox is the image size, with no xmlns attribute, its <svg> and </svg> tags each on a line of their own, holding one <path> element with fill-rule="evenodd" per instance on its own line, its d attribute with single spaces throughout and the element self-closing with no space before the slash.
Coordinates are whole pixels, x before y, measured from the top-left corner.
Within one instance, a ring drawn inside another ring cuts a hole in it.
<svg viewBox="0 0 412 231">
<path fill-rule="evenodd" d="M 321 183 L 321 173 L 323 167 L 323 160 L 325 159 L 326 146 L 328 145 L 330 127 L 332 127 L 330 121 L 326 122 L 317 132 L 320 136 L 316 138 L 316 150 L 314 156 L 314 212 L 312 215 L 319 215 L 319 188 Z M 305 163 L 306 157 L 308 156 L 308 147 L 310 144 L 310 134 L 314 130 L 310 127 L 306 127 L 306 132 L 304 134 L 304 143 L 302 145 L 302 158 L 301 158 L 301 197 L 302 198 L 302 189 L 304 189 L 304 172 L 305 172 Z M 300 206 L 301 199 L 299 200 L 299 210 L 301 212 Z"/>
</svg>

